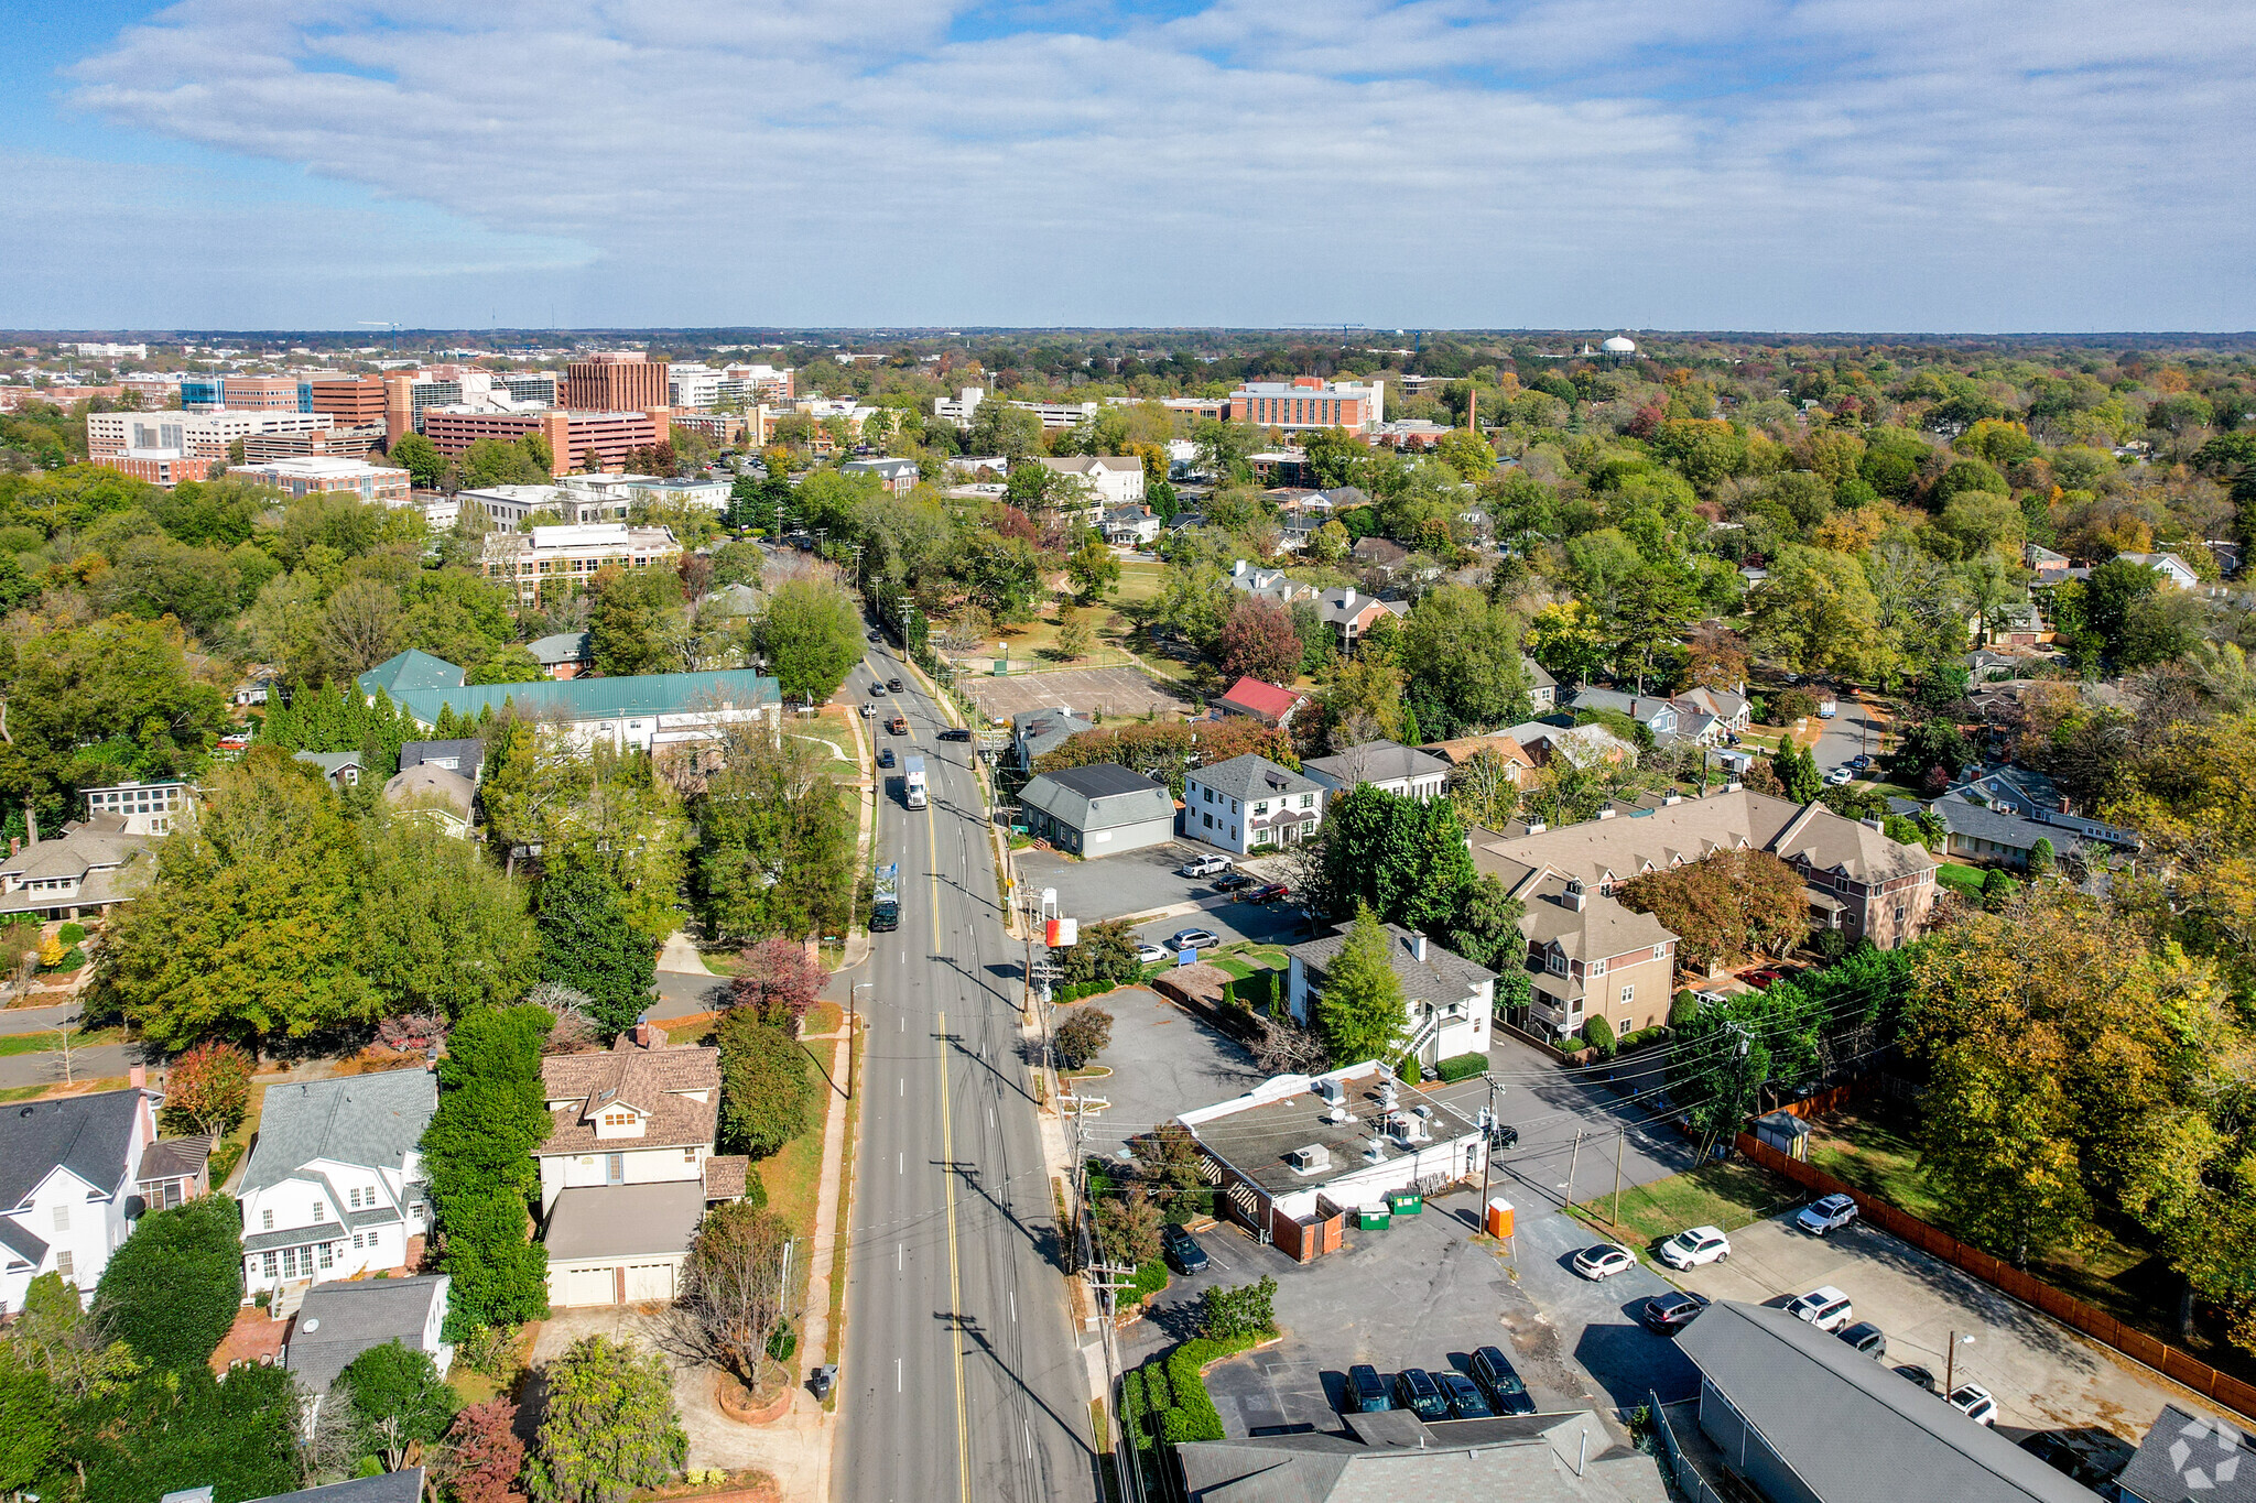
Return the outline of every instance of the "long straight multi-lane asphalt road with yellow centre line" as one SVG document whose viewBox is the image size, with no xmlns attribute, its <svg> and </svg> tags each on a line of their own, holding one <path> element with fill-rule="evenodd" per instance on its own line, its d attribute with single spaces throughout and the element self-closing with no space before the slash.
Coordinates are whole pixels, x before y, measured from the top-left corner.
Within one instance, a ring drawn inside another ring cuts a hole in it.
<svg viewBox="0 0 2256 1503">
<path fill-rule="evenodd" d="M 909 672 L 880 649 L 882 676 Z M 855 674 L 855 694 L 866 676 Z M 914 685 L 914 678 L 911 678 Z M 997 906 L 972 748 L 918 692 L 880 701 L 925 757 L 929 809 L 878 813 L 900 928 L 853 980 L 869 1023 L 860 1095 L 835 1496 L 844 1503 L 1094 1498 L 1087 1379 L 1056 1264 L 1033 1082 L 1020 1050 L 1022 944 Z"/>
</svg>

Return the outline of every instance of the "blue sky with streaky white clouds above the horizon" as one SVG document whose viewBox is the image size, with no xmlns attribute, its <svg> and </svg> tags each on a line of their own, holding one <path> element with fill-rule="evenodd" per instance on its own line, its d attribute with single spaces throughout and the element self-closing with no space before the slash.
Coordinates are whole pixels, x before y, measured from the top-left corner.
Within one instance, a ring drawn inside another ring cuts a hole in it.
<svg viewBox="0 0 2256 1503">
<path fill-rule="evenodd" d="M 0 324 L 2249 329 L 2227 0 L 0 0 Z"/>
</svg>

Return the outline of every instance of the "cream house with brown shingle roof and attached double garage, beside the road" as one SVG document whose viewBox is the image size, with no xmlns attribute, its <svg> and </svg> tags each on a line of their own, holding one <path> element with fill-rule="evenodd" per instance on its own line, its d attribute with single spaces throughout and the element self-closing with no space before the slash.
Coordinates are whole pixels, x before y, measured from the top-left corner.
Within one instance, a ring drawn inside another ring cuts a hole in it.
<svg viewBox="0 0 2256 1503">
<path fill-rule="evenodd" d="M 605 1052 L 544 1059 L 541 1095 L 548 1302 L 675 1298 L 706 1206 L 744 1194 L 747 1160 L 713 1151 L 720 1050 L 636 1023 Z"/>
</svg>

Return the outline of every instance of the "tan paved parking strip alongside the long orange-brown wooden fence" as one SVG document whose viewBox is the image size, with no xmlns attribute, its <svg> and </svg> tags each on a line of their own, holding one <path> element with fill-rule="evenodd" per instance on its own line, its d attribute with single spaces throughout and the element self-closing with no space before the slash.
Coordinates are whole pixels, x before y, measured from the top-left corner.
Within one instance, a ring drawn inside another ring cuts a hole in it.
<svg viewBox="0 0 2256 1503">
<path fill-rule="evenodd" d="M 1863 1224 L 1812 1237 L 1784 1215 L 1757 1221 L 1730 1235 L 1728 1262 L 1678 1282 L 1748 1305 L 1784 1305 L 1832 1284 L 1854 1300 L 1859 1320 L 1888 1334 L 1891 1366 L 1918 1363 L 1936 1379 L 1951 1334 L 1972 1334 L 1974 1343 L 1958 1348 L 1954 1381 L 1988 1388 L 1999 1404 L 1997 1426 L 2012 1440 L 2091 1424 L 2136 1444 L 2168 1399 L 2211 1413 L 2154 1372 Z"/>
</svg>

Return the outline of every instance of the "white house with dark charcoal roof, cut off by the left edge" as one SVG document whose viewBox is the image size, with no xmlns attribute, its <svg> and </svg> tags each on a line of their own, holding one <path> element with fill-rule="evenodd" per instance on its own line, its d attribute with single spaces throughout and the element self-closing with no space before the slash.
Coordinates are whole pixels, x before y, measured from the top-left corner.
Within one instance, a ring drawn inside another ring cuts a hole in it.
<svg viewBox="0 0 2256 1503">
<path fill-rule="evenodd" d="M 41 1273 L 95 1298 L 133 1230 L 135 1170 L 156 1142 L 156 1097 L 140 1086 L 23 1102 L 0 1111 L 0 1316 L 23 1309 Z"/>
</svg>

